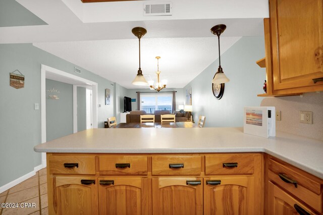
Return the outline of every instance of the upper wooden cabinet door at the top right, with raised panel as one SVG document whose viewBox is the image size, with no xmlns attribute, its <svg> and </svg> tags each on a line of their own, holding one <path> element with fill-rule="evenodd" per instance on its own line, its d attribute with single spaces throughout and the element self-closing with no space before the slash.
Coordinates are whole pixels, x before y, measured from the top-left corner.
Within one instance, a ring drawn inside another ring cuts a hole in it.
<svg viewBox="0 0 323 215">
<path fill-rule="evenodd" d="M 270 0 L 270 17 L 274 90 L 322 90 L 312 81 L 323 77 L 322 0 Z"/>
</svg>

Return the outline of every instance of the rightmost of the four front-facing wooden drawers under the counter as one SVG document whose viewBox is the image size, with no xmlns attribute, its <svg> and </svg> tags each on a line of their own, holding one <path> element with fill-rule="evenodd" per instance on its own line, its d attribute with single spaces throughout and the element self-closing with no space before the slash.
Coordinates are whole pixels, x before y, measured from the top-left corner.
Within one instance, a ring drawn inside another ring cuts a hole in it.
<svg viewBox="0 0 323 215">
<path fill-rule="evenodd" d="M 205 155 L 206 175 L 253 174 L 254 155 Z"/>
</svg>

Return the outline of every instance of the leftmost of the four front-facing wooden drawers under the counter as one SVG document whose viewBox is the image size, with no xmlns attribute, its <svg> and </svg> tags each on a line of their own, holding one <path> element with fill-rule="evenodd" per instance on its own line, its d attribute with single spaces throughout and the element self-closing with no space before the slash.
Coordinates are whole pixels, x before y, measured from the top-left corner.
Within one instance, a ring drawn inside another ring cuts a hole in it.
<svg viewBox="0 0 323 215">
<path fill-rule="evenodd" d="M 95 175 L 95 155 L 49 155 L 49 174 Z"/>
</svg>

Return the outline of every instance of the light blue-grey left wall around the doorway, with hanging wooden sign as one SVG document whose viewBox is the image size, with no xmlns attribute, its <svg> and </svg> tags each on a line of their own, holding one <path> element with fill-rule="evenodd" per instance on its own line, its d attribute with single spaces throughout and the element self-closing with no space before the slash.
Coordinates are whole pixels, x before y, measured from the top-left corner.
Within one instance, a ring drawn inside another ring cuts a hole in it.
<svg viewBox="0 0 323 215">
<path fill-rule="evenodd" d="M 0 44 L 0 187 L 34 170 L 41 154 L 33 147 L 41 143 L 40 65 L 44 64 L 98 83 L 98 127 L 114 114 L 115 91 L 111 81 L 51 55 L 32 44 Z M 81 74 L 74 72 L 74 67 Z M 9 86 L 9 73 L 25 75 L 25 87 Z M 105 105 L 105 88 L 111 89 L 112 104 Z M 39 103 L 39 110 L 34 110 Z M 10 164 L 10 165 L 9 165 Z M 13 171 L 14 170 L 14 171 Z"/>
</svg>

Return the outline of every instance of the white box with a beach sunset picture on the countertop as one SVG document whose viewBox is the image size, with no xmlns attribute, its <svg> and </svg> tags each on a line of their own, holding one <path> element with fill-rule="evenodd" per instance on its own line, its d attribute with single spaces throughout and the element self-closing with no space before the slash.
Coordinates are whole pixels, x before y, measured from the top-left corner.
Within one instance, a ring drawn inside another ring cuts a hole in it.
<svg viewBox="0 0 323 215">
<path fill-rule="evenodd" d="M 276 136 L 276 113 L 274 106 L 245 107 L 243 133 L 260 137 Z"/>
</svg>

